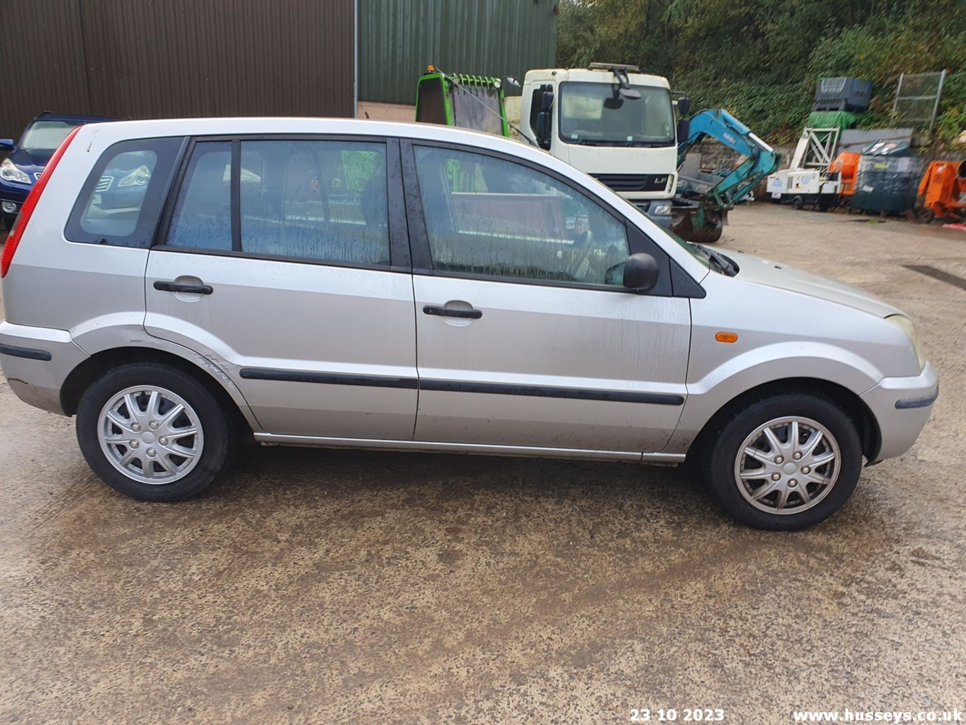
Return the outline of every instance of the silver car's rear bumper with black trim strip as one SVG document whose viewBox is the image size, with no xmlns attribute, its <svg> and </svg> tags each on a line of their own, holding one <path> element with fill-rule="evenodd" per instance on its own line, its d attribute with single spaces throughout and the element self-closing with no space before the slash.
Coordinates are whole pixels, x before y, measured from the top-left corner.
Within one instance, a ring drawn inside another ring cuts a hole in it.
<svg viewBox="0 0 966 725">
<path fill-rule="evenodd" d="M 0 322 L 0 367 L 16 396 L 36 408 L 64 415 L 61 388 L 87 358 L 66 330 Z"/>
</svg>

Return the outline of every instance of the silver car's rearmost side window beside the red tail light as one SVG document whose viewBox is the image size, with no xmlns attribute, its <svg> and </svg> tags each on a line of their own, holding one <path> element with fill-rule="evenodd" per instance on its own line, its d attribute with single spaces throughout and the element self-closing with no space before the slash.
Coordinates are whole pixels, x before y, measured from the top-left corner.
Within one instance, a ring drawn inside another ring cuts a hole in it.
<svg viewBox="0 0 966 725">
<path fill-rule="evenodd" d="M 181 137 L 145 138 L 104 151 L 71 211 L 67 239 L 151 246 L 183 143 Z"/>
</svg>

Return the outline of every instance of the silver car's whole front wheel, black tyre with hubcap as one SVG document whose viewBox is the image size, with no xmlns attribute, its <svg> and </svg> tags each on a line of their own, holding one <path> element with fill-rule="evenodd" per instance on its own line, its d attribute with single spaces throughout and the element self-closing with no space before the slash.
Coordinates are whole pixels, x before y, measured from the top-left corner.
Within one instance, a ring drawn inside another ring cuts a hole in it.
<svg viewBox="0 0 966 725">
<path fill-rule="evenodd" d="M 814 526 L 845 504 L 859 480 L 855 424 L 824 396 L 761 398 L 713 425 L 701 475 L 725 511 L 755 529 Z"/>
</svg>

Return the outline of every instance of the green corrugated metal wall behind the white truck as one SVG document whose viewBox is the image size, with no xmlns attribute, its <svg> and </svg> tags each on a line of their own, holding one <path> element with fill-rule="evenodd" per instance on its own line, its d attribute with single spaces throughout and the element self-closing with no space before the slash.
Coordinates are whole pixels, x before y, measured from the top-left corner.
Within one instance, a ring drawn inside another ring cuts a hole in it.
<svg viewBox="0 0 966 725">
<path fill-rule="evenodd" d="M 433 63 L 516 75 L 556 66 L 557 0 L 358 0 L 359 100 L 414 103 Z"/>
</svg>

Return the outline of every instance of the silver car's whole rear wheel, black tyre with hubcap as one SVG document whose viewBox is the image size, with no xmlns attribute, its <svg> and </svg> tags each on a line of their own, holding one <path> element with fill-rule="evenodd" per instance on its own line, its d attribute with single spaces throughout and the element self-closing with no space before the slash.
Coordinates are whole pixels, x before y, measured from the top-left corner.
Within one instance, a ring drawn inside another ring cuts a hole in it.
<svg viewBox="0 0 966 725">
<path fill-rule="evenodd" d="M 233 420 L 182 370 L 134 362 L 84 392 L 77 441 L 111 488 L 140 501 L 183 501 L 208 488 L 234 457 Z"/>
</svg>

